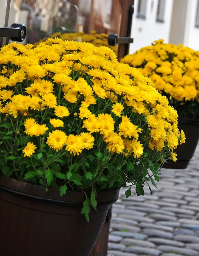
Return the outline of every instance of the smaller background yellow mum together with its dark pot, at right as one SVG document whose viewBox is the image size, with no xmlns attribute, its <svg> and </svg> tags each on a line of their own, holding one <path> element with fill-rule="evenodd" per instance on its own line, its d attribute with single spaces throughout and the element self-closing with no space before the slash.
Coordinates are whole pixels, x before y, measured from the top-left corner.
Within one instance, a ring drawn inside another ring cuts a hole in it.
<svg viewBox="0 0 199 256">
<path fill-rule="evenodd" d="M 199 52 L 188 47 L 165 44 L 162 39 L 126 55 L 123 63 L 148 76 L 154 87 L 179 114 L 179 127 L 186 143 L 177 148 L 178 161 L 164 167 L 185 169 L 199 139 Z"/>
</svg>

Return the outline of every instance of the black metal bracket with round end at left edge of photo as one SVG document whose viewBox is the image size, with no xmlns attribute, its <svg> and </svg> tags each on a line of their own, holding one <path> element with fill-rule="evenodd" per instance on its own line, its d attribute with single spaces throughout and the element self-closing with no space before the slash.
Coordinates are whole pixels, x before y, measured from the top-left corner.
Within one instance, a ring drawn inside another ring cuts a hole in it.
<svg viewBox="0 0 199 256">
<path fill-rule="evenodd" d="M 10 28 L 0 27 L 0 37 L 9 37 L 12 41 L 22 42 L 26 38 L 26 26 L 13 23 Z"/>
</svg>

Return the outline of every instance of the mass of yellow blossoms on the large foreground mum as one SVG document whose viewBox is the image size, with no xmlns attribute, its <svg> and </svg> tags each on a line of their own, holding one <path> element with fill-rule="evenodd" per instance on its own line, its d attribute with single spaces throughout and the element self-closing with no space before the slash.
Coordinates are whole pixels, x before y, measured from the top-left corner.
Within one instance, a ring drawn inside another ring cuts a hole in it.
<svg viewBox="0 0 199 256">
<path fill-rule="evenodd" d="M 79 155 L 105 145 L 140 158 L 145 148 L 173 151 L 184 142 L 166 97 L 108 47 L 60 38 L 35 48 L 11 43 L 0 51 L 0 66 L 0 116 L 24 122 L 23 136 L 55 151 Z M 28 143 L 24 156 L 35 150 Z"/>
</svg>

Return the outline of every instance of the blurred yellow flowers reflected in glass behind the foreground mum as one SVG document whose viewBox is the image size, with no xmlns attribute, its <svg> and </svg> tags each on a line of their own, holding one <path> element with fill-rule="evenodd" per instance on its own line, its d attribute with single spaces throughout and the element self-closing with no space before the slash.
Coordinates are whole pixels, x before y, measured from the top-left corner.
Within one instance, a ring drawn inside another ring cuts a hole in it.
<svg viewBox="0 0 199 256">
<path fill-rule="evenodd" d="M 105 33 L 98 34 L 95 30 L 91 31 L 90 34 L 85 34 L 84 32 L 77 32 L 77 33 L 64 33 L 56 32 L 52 35 L 50 35 L 50 38 L 61 38 L 63 40 L 74 40 L 78 42 L 88 42 L 93 44 L 94 46 L 100 47 L 100 46 L 107 46 L 111 48 L 115 54 L 117 54 L 117 46 L 110 46 L 108 45 L 108 35 Z M 34 47 L 36 47 L 38 44 L 46 41 L 47 38 L 43 38 L 40 41 L 34 43 Z"/>
</svg>

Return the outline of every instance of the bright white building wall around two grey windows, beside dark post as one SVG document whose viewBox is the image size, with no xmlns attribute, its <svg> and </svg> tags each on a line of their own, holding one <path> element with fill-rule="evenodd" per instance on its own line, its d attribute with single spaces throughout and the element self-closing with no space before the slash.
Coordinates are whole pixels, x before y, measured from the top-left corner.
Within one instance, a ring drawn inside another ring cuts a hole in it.
<svg viewBox="0 0 199 256">
<path fill-rule="evenodd" d="M 164 39 L 165 42 L 168 43 L 173 0 L 165 0 L 164 22 L 156 21 L 158 0 L 147 0 L 145 19 L 136 17 L 138 0 L 135 0 L 134 7 L 135 9 L 131 29 L 131 37 L 134 38 L 134 43 L 130 45 L 129 53 L 133 53 L 141 47 L 151 45 L 154 40 L 158 40 L 160 38 Z"/>
</svg>

